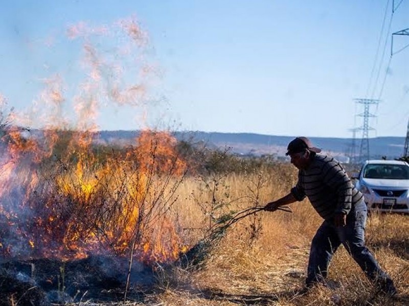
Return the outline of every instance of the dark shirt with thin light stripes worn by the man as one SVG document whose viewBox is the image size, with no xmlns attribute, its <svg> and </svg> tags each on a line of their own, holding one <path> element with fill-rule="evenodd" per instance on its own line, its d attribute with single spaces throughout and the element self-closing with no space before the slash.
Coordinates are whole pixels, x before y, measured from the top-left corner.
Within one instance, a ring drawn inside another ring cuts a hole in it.
<svg viewBox="0 0 409 306">
<path fill-rule="evenodd" d="M 363 197 L 339 162 L 322 155 L 313 157 L 309 167 L 299 171 L 297 185 L 291 193 L 299 201 L 307 196 L 317 213 L 326 220 L 335 213 L 348 214 L 351 205 Z"/>
</svg>

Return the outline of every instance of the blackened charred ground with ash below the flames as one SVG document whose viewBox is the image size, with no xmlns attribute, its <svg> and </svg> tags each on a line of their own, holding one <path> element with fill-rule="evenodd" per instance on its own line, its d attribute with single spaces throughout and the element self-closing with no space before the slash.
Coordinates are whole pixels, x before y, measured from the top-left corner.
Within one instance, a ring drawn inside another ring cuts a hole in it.
<svg viewBox="0 0 409 306">
<path fill-rule="evenodd" d="M 70 303 L 93 299 L 120 301 L 124 298 L 129 261 L 126 258 L 89 256 L 86 259 L 8 260 L 0 263 L 0 306 Z M 133 260 L 129 299 L 140 300 L 141 292 L 155 283 L 155 272 Z"/>
</svg>

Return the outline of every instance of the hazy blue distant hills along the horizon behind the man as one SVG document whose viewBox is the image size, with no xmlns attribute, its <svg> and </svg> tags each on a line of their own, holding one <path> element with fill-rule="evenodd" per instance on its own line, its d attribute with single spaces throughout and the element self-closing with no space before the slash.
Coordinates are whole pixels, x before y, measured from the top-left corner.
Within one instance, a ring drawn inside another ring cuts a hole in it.
<svg viewBox="0 0 409 306">
<path fill-rule="evenodd" d="M 138 131 L 101 131 L 100 141 L 105 143 L 131 143 L 139 134 Z M 265 154 L 283 157 L 288 143 L 294 136 L 274 136 L 253 133 L 207 133 L 207 132 L 175 132 L 177 139 L 192 142 L 205 142 L 211 147 L 229 147 L 232 152 L 240 155 L 260 156 Z M 340 159 L 348 156 L 351 151 L 352 138 L 310 137 L 311 141 L 326 154 Z M 360 139 L 356 139 L 356 153 L 359 153 Z M 403 154 L 404 137 L 376 137 L 369 139 L 370 158 L 388 159 L 401 157 Z"/>
</svg>

